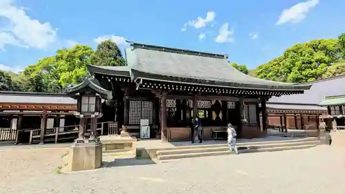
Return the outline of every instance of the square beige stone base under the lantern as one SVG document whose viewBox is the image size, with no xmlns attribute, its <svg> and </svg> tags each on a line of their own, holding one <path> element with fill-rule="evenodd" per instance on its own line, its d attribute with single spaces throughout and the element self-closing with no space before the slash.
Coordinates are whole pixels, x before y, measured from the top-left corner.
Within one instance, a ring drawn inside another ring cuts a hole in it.
<svg viewBox="0 0 345 194">
<path fill-rule="evenodd" d="M 99 139 L 93 139 L 93 141 L 76 139 L 75 143 L 70 147 L 68 160 L 69 171 L 91 170 L 101 167 L 101 142 L 99 142 Z"/>
</svg>

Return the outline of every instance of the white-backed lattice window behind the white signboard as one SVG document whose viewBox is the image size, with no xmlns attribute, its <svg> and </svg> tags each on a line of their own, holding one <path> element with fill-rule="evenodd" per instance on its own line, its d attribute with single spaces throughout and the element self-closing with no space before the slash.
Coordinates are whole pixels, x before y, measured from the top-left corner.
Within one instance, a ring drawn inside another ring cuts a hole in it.
<svg viewBox="0 0 345 194">
<path fill-rule="evenodd" d="M 148 119 L 152 124 L 154 104 L 152 101 L 130 101 L 129 124 L 140 124 L 140 119 Z"/>
</svg>

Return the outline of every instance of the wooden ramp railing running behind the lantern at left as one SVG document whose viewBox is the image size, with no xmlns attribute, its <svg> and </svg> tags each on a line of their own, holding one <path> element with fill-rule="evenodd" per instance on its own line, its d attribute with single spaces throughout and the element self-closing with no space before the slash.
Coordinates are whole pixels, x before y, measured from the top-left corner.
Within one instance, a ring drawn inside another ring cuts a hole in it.
<svg viewBox="0 0 345 194">
<path fill-rule="evenodd" d="M 98 135 L 103 135 L 104 126 L 105 124 L 108 124 L 108 133 L 111 133 L 110 135 L 117 134 L 117 124 L 115 122 L 99 122 L 97 123 L 96 131 Z M 62 129 L 62 130 L 61 130 Z M 28 130 L 27 130 L 28 131 Z M 47 128 L 46 133 L 44 134 L 44 139 L 48 139 L 50 137 L 50 141 L 54 140 L 55 144 L 57 144 L 58 140 L 61 139 L 75 139 L 76 137 L 72 134 L 78 134 L 79 132 L 79 125 L 74 126 L 63 126 L 63 127 L 55 127 L 55 128 Z M 61 135 L 67 136 L 63 138 Z M 90 135 L 90 124 L 86 127 L 86 133 L 85 136 Z M 39 139 L 41 137 L 41 129 L 33 129 L 30 130 L 30 139 L 29 144 L 32 144 L 34 139 Z M 54 137 L 54 139 L 52 139 Z"/>
</svg>

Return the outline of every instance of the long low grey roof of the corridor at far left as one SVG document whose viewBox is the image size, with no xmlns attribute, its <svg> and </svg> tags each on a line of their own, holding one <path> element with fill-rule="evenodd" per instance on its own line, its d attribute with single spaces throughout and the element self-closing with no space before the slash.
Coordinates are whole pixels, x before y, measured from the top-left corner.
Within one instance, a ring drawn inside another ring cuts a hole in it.
<svg viewBox="0 0 345 194">
<path fill-rule="evenodd" d="M 0 91 L 0 103 L 77 104 L 77 101 L 65 94 Z"/>
</svg>

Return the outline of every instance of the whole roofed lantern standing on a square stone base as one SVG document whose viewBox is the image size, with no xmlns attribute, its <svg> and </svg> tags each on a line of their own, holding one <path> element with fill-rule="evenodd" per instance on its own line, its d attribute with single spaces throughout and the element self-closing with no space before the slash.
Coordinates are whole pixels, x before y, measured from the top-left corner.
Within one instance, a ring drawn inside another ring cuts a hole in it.
<svg viewBox="0 0 345 194">
<path fill-rule="evenodd" d="M 68 167 L 70 171 L 99 168 L 102 162 L 102 144 L 97 137 L 97 119 L 102 116 L 101 101 L 112 99 L 112 91 L 102 88 L 97 80 L 87 77 L 81 84 L 68 87 L 64 92 L 77 99 L 75 117 L 80 119 L 78 138 L 71 146 Z M 86 138 L 88 121 L 90 137 Z"/>
</svg>

